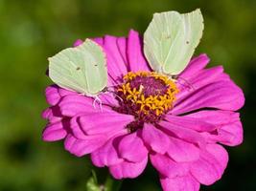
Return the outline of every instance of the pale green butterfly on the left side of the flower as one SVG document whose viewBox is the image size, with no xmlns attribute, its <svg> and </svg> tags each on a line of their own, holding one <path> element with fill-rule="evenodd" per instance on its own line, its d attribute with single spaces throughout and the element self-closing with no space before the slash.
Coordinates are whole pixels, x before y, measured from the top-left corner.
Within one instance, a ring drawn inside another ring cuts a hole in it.
<svg viewBox="0 0 256 191">
<path fill-rule="evenodd" d="M 105 53 L 90 39 L 57 53 L 49 62 L 49 76 L 61 88 L 98 98 L 106 87 Z"/>
</svg>

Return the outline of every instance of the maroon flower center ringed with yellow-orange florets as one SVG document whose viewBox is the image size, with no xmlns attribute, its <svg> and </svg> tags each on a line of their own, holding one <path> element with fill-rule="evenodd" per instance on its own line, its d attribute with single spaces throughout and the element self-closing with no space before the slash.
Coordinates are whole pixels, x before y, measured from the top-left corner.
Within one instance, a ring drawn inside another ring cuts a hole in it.
<svg viewBox="0 0 256 191">
<path fill-rule="evenodd" d="M 175 82 L 155 72 L 128 73 L 116 89 L 121 113 L 133 115 L 138 123 L 155 123 L 173 108 L 178 93 Z"/>
</svg>

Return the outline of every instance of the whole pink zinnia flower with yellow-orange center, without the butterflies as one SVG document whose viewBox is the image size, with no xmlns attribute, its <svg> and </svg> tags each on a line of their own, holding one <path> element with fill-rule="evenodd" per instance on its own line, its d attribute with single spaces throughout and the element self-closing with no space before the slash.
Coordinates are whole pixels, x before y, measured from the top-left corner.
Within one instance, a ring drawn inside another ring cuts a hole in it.
<svg viewBox="0 0 256 191">
<path fill-rule="evenodd" d="M 92 97 L 49 86 L 43 139 L 64 139 L 67 151 L 90 154 L 115 179 L 138 177 L 150 160 L 165 191 L 196 191 L 220 180 L 228 161 L 222 145 L 243 141 L 235 111 L 244 105 L 222 67 L 205 69 L 209 58 L 200 54 L 173 80 L 152 72 L 138 32 L 94 40 L 106 53 L 111 90 L 100 95 L 102 110 Z"/>
</svg>

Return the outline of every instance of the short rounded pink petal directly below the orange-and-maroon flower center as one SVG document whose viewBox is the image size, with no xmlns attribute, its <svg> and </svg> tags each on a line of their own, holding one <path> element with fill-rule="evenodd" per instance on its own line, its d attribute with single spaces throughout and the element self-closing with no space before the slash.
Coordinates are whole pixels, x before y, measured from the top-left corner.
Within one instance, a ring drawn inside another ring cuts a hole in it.
<svg viewBox="0 0 256 191">
<path fill-rule="evenodd" d="M 170 138 L 151 124 L 144 124 L 142 138 L 157 153 L 165 154 L 169 148 Z"/>
</svg>

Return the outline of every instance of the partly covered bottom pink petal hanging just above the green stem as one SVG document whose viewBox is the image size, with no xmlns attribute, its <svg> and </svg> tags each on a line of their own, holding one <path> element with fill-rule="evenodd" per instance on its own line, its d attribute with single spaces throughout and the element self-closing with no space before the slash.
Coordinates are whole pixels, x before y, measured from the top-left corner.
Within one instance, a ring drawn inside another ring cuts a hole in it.
<svg viewBox="0 0 256 191">
<path fill-rule="evenodd" d="M 109 171 L 111 175 L 118 180 L 125 178 L 134 179 L 144 171 L 147 163 L 148 158 L 135 163 L 123 161 L 118 164 L 110 166 Z"/>
</svg>

